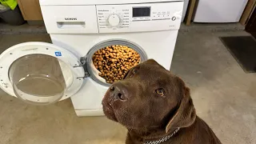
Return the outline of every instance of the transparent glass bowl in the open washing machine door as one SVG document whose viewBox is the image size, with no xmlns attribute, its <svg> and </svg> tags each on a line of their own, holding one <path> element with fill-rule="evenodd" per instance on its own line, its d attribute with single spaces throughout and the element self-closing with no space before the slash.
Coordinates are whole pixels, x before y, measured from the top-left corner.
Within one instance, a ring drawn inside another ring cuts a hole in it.
<svg viewBox="0 0 256 144">
<path fill-rule="evenodd" d="M 18 98 L 38 105 L 57 102 L 73 82 L 69 66 L 46 54 L 18 58 L 10 66 L 9 78 Z"/>
</svg>

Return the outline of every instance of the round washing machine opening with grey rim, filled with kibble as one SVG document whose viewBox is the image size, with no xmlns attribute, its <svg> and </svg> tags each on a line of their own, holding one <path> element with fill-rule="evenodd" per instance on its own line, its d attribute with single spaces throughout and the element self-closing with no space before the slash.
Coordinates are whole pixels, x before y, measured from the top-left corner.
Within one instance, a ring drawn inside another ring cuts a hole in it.
<svg viewBox="0 0 256 144">
<path fill-rule="evenodd" d="M 94 46 L 87 54 L 86 63 L 90 78 L 110 86 L 121 80 L 130 68 L 146 59 L 146 53 L 140 46 L 118 39 Z"/>
</svg>

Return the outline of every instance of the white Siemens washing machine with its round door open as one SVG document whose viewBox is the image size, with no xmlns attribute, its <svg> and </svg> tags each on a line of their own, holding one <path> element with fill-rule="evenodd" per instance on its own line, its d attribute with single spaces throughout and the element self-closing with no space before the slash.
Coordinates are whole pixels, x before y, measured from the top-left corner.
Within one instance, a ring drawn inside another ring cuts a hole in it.
<svg viewBox="0 0 256 144">
<path fill-rule="evenodd" d="M 0 55 L 0 86 L 31 104 L 71 98 L 78 116 L 102 113 L 110 86 L 92 58 L 106 46 L 136 50 L 170 69 L 182 19 L 180 0 L 41 0 L 53 44 L 26 42 Z"/>
</svg>

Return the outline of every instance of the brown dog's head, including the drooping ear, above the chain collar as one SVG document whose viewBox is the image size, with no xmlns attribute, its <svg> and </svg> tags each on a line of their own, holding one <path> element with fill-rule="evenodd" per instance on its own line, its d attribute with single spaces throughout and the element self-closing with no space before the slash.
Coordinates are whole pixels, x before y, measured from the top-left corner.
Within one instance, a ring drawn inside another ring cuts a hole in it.
<svg viewBox="0 0 256 144">
<path fill-rule="evenodd" d="M 190 126 L 195 110 L 182 79 L 154 60 L 134 66 L 114 83 L 102 100 L 107 118 L 130 129 L 164 128 L 166 132 Z"/>
</svg>

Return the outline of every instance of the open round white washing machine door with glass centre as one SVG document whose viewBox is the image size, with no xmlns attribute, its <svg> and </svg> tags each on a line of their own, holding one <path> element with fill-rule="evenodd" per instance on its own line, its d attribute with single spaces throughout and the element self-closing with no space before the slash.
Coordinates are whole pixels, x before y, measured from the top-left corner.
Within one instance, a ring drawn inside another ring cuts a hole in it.
<svg viewBox="0 0 256 144">
<path fill-rule="evenodd" d="M 85 76 L 79 58 L 46 42 L 26 42 L 0 55 L 0 87 L 30 104 L 47 105 L 70 98 Z"/>
</svg>

